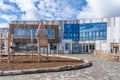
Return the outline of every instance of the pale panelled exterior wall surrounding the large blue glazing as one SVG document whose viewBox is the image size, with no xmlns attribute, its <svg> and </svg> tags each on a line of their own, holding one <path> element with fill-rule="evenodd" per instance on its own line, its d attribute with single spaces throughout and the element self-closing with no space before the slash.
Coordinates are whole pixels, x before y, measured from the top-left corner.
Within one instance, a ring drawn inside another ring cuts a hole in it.
<svg viewBox="0 0 120 80">
<path fill-rule="evenodd" d="M 22 22 L 26 24 L 37 24 L 39 21 L 33 21 L 33 22 Z M 96 50 L 103 50 L 107 52 L 111 52 L 111 44 L 112 43 L 119 43 L 120 42 L 120 17 L 113 17 L 113 18 L 99 18 L 99 19 L 89 19 L 89 20 L 46 20 L 42 21 L 44 25 L 58 25 L 58 31 L 59 31 L 59 39 L 57 44 L 57 52 L 56 53 L 72 53 L 72 47 L 74 43 L 78 43 L 83 46 L 88 46 L 90 48 L 90 45 L 94 45 Z M 84 40 L 84 41 L 74 41 L 71 39 L 64 39 L 64 24 L 83 24 L 83 23 L 100 23 L 100 22 L 106 22 L 107 23 L 107 39 L 106 40 Z M 16 24 L 15 22 L 13 22 Z M 20 24 L 18 21 L 17 23 Z M 69 49 L 66 50 L 66 43 L 69 45 Z M 86 49 L 86 48 L 85 48 Z M 49 44 L 49 53 L 52 53 L 53 51 L 50 51 L 50 44 Z M 81 50 L 82 51 L 82 50 Z M 54 52 L 53 52 L 54 53 Z M 88 51 L 88 53 L 91 53 Z"/>
</svg>

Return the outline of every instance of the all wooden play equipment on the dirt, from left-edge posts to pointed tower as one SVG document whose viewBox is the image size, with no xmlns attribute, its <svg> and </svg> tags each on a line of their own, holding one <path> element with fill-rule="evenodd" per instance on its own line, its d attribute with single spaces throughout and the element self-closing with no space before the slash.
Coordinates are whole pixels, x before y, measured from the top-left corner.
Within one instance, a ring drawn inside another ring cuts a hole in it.
<svg viewBox="0 0 120 80">
<path fill-rule="evenodd" d="M 44 25 L 42 25 L 42 23 L 38 23 L 38 29 L 36 32 L 36 40 L 37 40 L 37 46 L 34 47 L 34 39 L 32 36 L 32 31 L 30 31 L 30 36 L 31 36 L 31 45 L 24 49 L 27 49 L 29 51 L 31 51 L 31 56 L 33 56 L 33 50 L 36 48 L 37 50 L 37 55 L 38 55 L 38 62 L 40 62 L 40 58 L 44 58 L 46 61 L 48 59 L 48 34 L 47 31 L 44 27 Z M 3 41 L 6 40 L 6 46 L 3 45 Z M 8 63 L 12 62 L 14 60 L 14 55 L 15 55 L 15 49 L 17 49 L 18 47 L 15 47 L 15 38 L 14 35 L 10 32 L 7 33 L 7 37 L 4 38 L 3 35 L 1 34 L 0 36 L 0 62 L 7 60 Z M 41 55 L 41 49 L 45 48 L 46 49 L 46 57 Z M 7 49 L 7 54 L 4 54 L 4 49 Z M 20 48 L 18 48 L 20 49 Z M 5 55 L 5 56 L 4 56 Z"/>
</svg>

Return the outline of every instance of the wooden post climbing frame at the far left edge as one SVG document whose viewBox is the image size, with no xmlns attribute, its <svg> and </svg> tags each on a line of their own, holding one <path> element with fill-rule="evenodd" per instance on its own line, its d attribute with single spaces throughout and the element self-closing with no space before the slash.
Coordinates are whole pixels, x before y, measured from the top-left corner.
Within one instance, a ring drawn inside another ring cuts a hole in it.
<svg viewBox="0 0 120 80">
<path fill-rule="evenodd" d="M 6 45 L 3 42 L 6 41 Z M 7 50 L 7 54 L 5 55 L 4 50 Z M 12 50 L 10 52 L 10 49 Z M 12 55 L 11 55 L 12 54 Z M 7 60 L 8 63 L 13 60 L 14 49 L 13 49 L 13 35 L 8 32 L 7 37 L 3 37 L 3 34 L 0 36 L 0 62 Z"/>
</svg>

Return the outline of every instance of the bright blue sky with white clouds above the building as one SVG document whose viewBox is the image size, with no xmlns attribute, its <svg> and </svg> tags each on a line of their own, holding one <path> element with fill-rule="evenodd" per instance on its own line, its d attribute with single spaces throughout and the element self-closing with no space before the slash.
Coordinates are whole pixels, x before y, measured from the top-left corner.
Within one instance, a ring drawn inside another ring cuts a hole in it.
<svg viewBox="0 0 120 80">
<path fill-rule="evenodd" d="M 0 27 L 14 20 L 76 20 L 120 16 L 120 0 L 0 0 Z"/>
</svg>

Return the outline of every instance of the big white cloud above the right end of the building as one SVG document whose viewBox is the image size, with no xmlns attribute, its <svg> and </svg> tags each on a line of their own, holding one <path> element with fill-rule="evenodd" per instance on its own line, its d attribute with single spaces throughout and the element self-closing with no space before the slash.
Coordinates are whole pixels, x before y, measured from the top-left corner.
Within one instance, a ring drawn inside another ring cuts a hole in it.
<svg viewBox="0 0 120 80">
<path fill-rule="evenodd" d="M 86 0 L 88 3 L 78 14 L 78 19 L 120 16 L 119 0 Z"/>
</svg>

